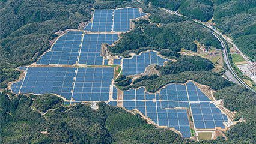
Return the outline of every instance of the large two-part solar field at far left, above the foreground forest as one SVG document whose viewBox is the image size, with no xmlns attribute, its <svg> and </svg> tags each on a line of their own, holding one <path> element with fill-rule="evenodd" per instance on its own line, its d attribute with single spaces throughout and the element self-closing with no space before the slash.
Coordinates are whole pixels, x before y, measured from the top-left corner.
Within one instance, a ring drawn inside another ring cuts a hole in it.
<svg viewBox="0 0 256 144">
<path fill-rule="evenodd" d="M 114 68 L 29 67 L 11 86 L 18 94 L 58 94 L 76 101 L 108 101 Z"/>
</svg>

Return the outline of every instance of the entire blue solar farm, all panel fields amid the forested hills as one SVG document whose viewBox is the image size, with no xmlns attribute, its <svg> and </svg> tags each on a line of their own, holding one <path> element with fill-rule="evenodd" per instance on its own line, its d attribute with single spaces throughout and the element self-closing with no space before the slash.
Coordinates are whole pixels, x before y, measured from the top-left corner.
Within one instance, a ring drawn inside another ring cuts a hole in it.
<svg viewBox="0 0 256 144">
<path fill-rule="evenodd" d="M 94 10 L 93 22 L 84 30 L 129 31 L 130 19 L 144 15 L 138 8 Z M 37 64 L 108 65 L 108 59 L 103 61 L 100 56 L 101 46 L 105 43 L 112 45 L 118 38 L 118 34 L 70 31 L 59 37 L 52 49 L 38 59 Z M 157 56 L 153 50 L 123 59 L 123 62 L 121 60 L 119 56 L 114 59 L 113 64 L 123 64 L 124 75 L 141 74 L 148 65 L 163 65 L 168 61 Z M 111 85 L 114 78 L 113 67 L 19 67 L 18 70 L 26 70 L 26 73 L 22 80 L 11 85 L 11 90 L 16 94 L 52 93 L 70 100 L 65 104 L 108 101 L 109 105 L 117 106 L 117 88 Z M 191 136 L 190 118 L 187 115 L 189 109 L 197 129 L 225 128 L 223 122 L 228 121 L 227 116 L 193 82 L 187 82 L 186 85 L 170 84 L 154 94 L 146 92 L 144 88 L 123 91 L 123 107 L 127 110 L 137 109 L 155 124 L 174 128 L 185 138 Z"/>
</svg>

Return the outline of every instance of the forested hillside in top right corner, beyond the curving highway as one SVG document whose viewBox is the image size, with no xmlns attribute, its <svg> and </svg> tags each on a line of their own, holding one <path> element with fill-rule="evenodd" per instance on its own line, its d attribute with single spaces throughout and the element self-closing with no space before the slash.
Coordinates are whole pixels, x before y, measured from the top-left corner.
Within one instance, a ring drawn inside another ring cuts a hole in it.
<svg viewBox="0 0 256 144">
<path fill-rule="evenodd" d="M 216 27 L 230 34 L 245 55 L 256 60 L 256 1 L 221 1 L 216 5 Z"/>
</svg>

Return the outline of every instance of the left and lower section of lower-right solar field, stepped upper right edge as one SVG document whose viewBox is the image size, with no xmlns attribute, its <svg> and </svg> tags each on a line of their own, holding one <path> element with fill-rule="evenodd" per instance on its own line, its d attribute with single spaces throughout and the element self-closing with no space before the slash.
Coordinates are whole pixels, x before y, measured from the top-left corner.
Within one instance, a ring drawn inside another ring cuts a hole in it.
<svg viewBox="0 0 256 144">
<path fill-rule="evenodd" d="M 138 109 L 154 123 L 159 126 L 175 128 L 185 138 L 191 136 L 186 109 L 163 109 L 159 93 L 150 94 L 144 88 L 124 91 L 123 107 L 127 110 Z"/>
</svg>

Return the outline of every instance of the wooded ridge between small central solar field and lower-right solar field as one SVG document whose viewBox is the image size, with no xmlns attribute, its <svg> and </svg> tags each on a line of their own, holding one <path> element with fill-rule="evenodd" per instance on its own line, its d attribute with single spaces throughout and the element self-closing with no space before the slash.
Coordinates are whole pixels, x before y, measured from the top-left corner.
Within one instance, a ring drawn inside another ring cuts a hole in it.
<svg viewBox="0 0 256 144">
<path fill-rule="evenodd" d="M 160 76 L 141 76 L 132 84 L 126 78 L 116 85 L 123 90 L 145 86 L 148 92 L 153 93 L 169 83 L 186 83 L 187 80 L 194 80 L 214 90 L 234 85 L 220 74 L 210 71 L 213 68 L 212 62 L 198 56 L 180 56 L 175 62 L 166 62 L 164 66 L 156 65 L 155 68 Z"/>
</svg>

